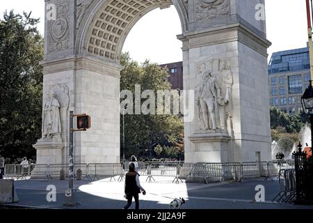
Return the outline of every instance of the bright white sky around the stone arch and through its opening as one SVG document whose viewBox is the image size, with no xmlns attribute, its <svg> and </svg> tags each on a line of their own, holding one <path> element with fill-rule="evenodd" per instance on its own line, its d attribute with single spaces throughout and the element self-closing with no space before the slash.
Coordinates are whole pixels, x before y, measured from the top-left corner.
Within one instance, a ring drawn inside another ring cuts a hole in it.
<svg viewBox="0 0 313 223">
<path fill-rule="evenodd" d="M 14 9 L 16 13 L 32 11 L 33 17 L 40 17 L 40 33 L 44 33 L 44 0 L 1 0 L 0 12 Z M 1 18 L 3 16 L 1 15 Z M 305 0 L 266 0 L 267 38 L 273 45 L 273 52 L 305 47 L 307 23 Z M 182 43 L 176 35 L 182 33 L 177 11 L 172 6 L 148 13 L 134 26 L 125 42 L 124 51 L 129 51 L 136 61 L 150 59 L 157 63 L 182 61 Z"/>
</svg>

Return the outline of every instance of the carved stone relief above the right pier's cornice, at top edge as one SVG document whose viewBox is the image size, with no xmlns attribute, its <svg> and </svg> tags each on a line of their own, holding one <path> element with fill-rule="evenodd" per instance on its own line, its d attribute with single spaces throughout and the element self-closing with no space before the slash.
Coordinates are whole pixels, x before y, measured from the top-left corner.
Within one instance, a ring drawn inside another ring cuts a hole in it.
<svg viewBox="0 0 313 223">
<path fill-rule="evenodd" d="M 223 17 L 230 13 L 229 0 L 197 0 L 197 21 Z"/>
</svg>

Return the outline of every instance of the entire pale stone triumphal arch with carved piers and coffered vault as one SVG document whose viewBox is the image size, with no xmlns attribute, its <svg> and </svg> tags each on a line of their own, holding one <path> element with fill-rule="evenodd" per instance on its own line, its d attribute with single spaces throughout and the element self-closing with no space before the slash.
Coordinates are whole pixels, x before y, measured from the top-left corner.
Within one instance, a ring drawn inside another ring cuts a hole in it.
<svg viewBox="0 0 313 223">
<path fill-rule="evenodd" d="M 184 121 L 185 162 L 271 159 L 271 43 L 256 7 L 262 8 L 264 0 L 45 3 L 42 138 L 34 145 L 38 164 L 67 163 L 70 111 L 92 119 L 90 130 L 75 133 L 75 162 L 120 162 L 122 47 L 141 17 L 170 5 L 182 24 L 177 38 L 182 41 L 184 90 L 195 91 L 195 98 L 188 99 L 195 102 L 195 117 Z"/>
</svg>

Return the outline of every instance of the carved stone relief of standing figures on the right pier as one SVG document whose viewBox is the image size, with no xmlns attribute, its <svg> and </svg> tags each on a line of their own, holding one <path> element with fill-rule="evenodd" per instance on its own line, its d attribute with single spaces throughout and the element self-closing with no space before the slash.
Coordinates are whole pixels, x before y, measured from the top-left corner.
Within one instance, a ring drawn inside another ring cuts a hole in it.
<svg viewBox="0 0 313 223">
<path fill-rule="evenodd" d="M 230 60 L 209 59 L 196 64 L 198 130 L 228 132 L 232 126 L 233 74 Z"/>
</svg>

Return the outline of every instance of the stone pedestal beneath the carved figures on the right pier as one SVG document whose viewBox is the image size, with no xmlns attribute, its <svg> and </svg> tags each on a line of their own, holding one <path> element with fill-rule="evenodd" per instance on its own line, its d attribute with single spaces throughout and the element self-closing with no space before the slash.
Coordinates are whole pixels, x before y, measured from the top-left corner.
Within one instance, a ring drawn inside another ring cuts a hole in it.
<svg viewBox="0 0 313 223">
<path fill-rule="evenodd" d="M 194 150 L 186 162 L 233 162 L 232 138 L 227 133 L 198 132 L 188 139 Z"/>
</svg>

